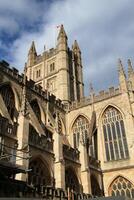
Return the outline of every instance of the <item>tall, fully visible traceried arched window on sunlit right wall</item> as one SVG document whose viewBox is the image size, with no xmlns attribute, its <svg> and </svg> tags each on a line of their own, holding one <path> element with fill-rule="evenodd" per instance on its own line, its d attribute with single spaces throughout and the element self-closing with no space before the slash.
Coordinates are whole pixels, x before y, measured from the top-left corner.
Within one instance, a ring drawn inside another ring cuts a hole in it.
<svg viewBox="0 0 134 200">
<path fill-rule="evenodd" d="M 102 117 L 106 160 L 129 157 L 124 122 L 121 113 L 109 106 Z"/>
</svg>

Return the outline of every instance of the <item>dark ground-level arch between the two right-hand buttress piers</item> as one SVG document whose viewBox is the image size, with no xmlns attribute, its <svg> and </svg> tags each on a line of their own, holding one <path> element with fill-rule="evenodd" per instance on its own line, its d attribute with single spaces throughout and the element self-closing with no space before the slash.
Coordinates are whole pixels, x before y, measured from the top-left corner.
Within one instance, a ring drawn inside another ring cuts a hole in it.
<svg viewBox="0 0 134 200">
<path fill-rule="evenodd" d="M 65 170 L 65 184 L 66 189 L 73 190 L 75 192 L 80 192 L 80 184 L 75 171 L 69 167 Z"/>
</svg>

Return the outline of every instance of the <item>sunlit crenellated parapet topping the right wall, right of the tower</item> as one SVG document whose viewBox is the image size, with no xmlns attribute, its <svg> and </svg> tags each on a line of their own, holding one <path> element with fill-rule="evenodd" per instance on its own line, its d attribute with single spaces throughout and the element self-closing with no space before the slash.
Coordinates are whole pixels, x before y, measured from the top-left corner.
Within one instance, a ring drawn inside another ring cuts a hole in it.
<svg viewBox="0 0 134 200">
<path fill-rule="evenodd" d="M 80 101 L 74 101 L 70 104 L 69 110 L 74 110 L 76 108 L 80 108 L 83 106 L 87 106 L 94 103 L 97 103 L 99 101 L 114 97 L 121 94 L 121 91 L 119 88 L 110 87 L 108 91 L 100 91 L 99 94 L 93 94 L 93 98 L 91 98 L 91 95 L 89 97 L 84 97 Z"/>
</svg>

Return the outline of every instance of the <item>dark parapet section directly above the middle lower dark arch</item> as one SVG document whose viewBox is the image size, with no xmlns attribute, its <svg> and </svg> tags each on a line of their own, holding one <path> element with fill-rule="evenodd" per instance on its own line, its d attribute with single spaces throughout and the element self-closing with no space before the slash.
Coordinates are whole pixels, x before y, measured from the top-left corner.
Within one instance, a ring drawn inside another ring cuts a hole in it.
<svg viewBox="0 0 134 200">
<path fill-rule="evenodd" d="M 79 162 L 79 154 L 80 152 L 78 151 L 78 149 L 63 145 L 63 156 L 65 159 Z"/>
</svg>

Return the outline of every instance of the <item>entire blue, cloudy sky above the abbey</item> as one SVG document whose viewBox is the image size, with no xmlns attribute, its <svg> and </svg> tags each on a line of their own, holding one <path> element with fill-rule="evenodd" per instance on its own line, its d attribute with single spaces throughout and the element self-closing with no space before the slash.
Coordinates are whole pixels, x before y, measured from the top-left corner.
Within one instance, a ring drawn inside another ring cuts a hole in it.
<svg viewBox="0 0 134 200">
<path fill-rule="evenodd" d="M 82 52 L 85 94 L 118 85 L 117 61 L 134 62 L 133 0 L 0 0 L 0 60 L 21 72 L 34 40 L 37 53 L 55 47 L 63 24 Z"/>
</svg>

